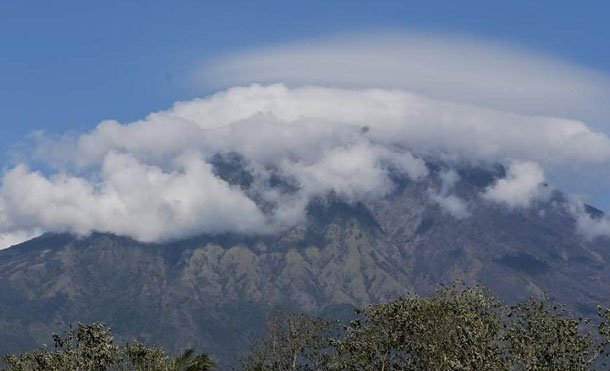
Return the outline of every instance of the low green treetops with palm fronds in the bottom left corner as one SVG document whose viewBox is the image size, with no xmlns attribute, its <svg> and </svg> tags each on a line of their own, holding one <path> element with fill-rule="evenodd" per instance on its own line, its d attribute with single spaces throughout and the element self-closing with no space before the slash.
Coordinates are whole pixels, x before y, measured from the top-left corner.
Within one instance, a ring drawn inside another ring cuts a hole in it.
<svg viewBox="0 0 610 371">
<path fill-rule="evenodd" d="M 65 336 L 53 334 L 55 349 L 46 346 L 21 355 L 4 357 L 6 371 L 207 371 L 214 363 L 205 354 L 187 350 L 169 358 L 162 348 L 133 342 L 114 344 L 110 329 L 102 323 L 78 324 Z"/>
</svg>

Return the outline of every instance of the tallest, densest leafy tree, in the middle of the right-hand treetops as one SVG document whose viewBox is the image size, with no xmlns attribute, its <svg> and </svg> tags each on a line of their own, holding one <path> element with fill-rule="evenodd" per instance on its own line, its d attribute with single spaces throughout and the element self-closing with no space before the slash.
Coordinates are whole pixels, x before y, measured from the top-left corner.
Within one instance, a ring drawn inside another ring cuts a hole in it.
<svg viewBox="0 0 610 371">
<path fill-rule="evenodd" d="M 364 310 L 332 340 L 337 370 L 500 370 L 498 302 L 484 289 L 443 288 Z"/>
</svg>

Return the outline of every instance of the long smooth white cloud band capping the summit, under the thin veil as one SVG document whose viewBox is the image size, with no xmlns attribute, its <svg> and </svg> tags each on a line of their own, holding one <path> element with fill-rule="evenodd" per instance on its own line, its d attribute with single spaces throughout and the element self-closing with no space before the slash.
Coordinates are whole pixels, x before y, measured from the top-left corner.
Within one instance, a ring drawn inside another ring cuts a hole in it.
<svg viewBox="0 0 610 371">
<path fill-rule="evenodd" d="M 363 127 L 369 130 L 363 132 Z M 115 150 L 161 163 L 194 149 L 205 154 L 236 151 L 270 163 L 278 153 L 310 160 L 362 137 L 386 148 L 472 160 L 526 158 L 565 165 L 610 158 L 610 139 L 577 120 L 447 103 L 402 90 L 290 89 L 281 84 L 232 88 L 127 125 L 102 122 L 73 146 L 46 142 L 39 157 L 91 166 Z"/>
</svg>

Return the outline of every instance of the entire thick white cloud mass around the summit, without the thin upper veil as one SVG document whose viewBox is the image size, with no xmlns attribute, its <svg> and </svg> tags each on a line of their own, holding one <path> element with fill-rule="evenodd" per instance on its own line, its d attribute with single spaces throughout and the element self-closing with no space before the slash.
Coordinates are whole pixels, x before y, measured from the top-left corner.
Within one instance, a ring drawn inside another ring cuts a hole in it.
<svg viewBox="0 0 610 371">
<path fill-rule="evenodd" d="M 513 164 L 482 197 L 524 207 L 544 170 L 560 178 L 567 164 L 607 164 L 610 140 L 576 120 L 398 89 L 235 87 L 141 121 L 39 136 L 34 158 L 55 170 L 45 175 L 23 163 L 4 173 L 0 234 L 100 231 L 163 241 L 270 233 L 301 223 L 313 197 L 383 197 L 393 188 L 390 171 L 424 178 L 423 158 L 431 156 Z M 215 166 L 223 161 L 245 171 L 231 181 Z M 468 216 L 447 191 L 435 200 Z"/>
</svg>

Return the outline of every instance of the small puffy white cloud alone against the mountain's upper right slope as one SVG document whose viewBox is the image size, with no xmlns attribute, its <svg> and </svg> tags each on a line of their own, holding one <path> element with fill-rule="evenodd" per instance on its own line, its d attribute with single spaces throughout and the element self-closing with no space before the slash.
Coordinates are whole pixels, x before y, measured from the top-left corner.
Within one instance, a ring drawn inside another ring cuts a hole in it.
<svg viewBox="0 0 610 371">
<path fill-rule="evenodd" d="M 532 201 L 548 199 L 550 191 L 544 182 L 544 171 L 535 162 L 512 162 L 506 177 L 487 187 L 482 197 L 510 208 L 529 207 Z"/>
</svg>

